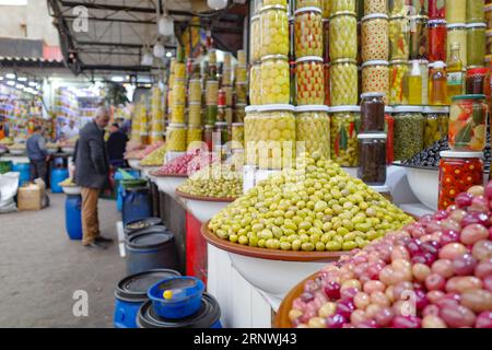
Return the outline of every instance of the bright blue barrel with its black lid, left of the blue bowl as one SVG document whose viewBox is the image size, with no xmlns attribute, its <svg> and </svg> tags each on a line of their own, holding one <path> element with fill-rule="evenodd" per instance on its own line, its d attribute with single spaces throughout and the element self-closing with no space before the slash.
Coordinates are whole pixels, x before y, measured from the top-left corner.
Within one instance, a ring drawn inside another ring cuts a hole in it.
<svg viewBox="0 0 492 350">
<path fill-rule="evenodd" d="M 149 288 L 161 280 L 180 276 L 178 271 L 169 269 L 154 269 L 124 278 L 115 291 L 116 328 L 137 328 L 137 315 L 140 307 L 148 301 Z"/>
</svg>

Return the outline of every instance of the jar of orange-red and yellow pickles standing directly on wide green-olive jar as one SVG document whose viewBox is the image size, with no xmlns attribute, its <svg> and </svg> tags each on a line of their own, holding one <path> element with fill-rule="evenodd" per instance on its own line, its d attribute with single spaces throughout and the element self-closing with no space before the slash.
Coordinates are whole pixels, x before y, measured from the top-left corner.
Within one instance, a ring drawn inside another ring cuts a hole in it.
<svg viewBox="0 0 492 350">
<path fill-rule="evenodd" d="M 295 61 L 297 105 L 323 105 L 325 82 L 323 58 L 307 56 Z"/>
</svg>

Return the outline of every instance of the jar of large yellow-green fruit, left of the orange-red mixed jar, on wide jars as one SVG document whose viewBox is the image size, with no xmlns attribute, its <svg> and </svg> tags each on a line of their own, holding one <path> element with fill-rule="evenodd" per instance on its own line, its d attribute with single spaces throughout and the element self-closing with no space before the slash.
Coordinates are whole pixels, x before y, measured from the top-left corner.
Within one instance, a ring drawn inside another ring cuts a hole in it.
<svg viewBox="0 0 492 350">
<path fill-rule="evenodd" d="M 261 59 L 261 104 L 288 104 L 290 72 L 286 56 L 266 56 Z"/>
</svg>

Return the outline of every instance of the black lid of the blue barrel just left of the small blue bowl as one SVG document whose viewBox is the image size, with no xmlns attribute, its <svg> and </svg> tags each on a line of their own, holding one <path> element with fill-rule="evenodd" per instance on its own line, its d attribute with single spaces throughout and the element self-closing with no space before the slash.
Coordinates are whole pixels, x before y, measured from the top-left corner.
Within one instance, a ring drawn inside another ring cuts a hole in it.
<svg viewBox="0 0 492 350">
<path fill-rule="evenodd" d="M 153 269 L 124 278 L 116 285 L 115 296 L 126 302 L 144 302 L 149 288 L 163 279 L 181 276 L 172 269 Z"/>
</svg>

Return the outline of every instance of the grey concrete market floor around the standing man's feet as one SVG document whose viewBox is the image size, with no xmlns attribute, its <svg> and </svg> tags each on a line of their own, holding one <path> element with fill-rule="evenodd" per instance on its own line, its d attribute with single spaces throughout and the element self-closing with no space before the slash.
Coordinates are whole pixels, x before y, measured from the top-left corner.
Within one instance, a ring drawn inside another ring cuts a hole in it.
<svg viewBox="0 0 492 350">
<path fill-rule="evenodd" d="M 99 200 L 106 250 L 84 248 L 65 231 L 65 195 L 42 211 L 0 214 L 0 327 L 113 327 L 114 291 L 126 276 L 119 256 L 116 202 Z M 77 317 L 75 291 L 85 291 L 89 316 Z"/>
</svg>

